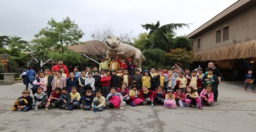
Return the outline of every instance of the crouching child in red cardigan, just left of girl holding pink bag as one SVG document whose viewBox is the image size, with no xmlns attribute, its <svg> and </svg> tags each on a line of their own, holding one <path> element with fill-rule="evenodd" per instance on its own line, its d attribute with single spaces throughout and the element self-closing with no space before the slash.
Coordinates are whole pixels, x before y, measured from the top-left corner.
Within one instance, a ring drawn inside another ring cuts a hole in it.
<svg viewBox="0 0 256 132">
<path fill-rule="evenodd" d="M 165 101 L 165 91 L 163 90 L 163 86 L 159 85 L 157 86 L 157 90 L 154 91 L 154 93 L 151 96 L 151 102 L 155 102 L 155 106 L 158 106 L 159 104 L 163 104 Z"/>
</svg>

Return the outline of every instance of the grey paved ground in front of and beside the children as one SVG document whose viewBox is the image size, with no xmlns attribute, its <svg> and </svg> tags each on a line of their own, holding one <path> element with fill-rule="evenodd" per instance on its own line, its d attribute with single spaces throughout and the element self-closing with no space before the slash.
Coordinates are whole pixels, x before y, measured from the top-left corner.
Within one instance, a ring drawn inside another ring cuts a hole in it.
<svg viewBox="0 0 256 132">
<path fill-rule="evenodd" d="M 254 132 L 256 93 L 221 83 L 214 106 L 167 109 L 163 106 L 126 106 L 102 112 L 39 109 L 28 112 L 11 111 L 21 96 L 24 85 L 0 85 L 1 132 Z M 12 93 L 12 94 L 10 94 Z M 32 95 L 32 94 L 31 94 Z"/>
</svg>

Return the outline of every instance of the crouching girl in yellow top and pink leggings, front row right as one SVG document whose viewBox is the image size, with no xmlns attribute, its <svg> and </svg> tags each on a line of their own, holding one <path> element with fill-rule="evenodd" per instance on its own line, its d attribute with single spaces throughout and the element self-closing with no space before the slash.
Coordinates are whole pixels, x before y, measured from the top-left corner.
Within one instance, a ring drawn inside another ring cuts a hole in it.
<svg viewBox="0 0 256 132">
<path fill-rule="evenodd" d="M 201 106 L 201 98 L 199 98 L 198 93 L 195 91 L 195 89 L 191 86 L 187 86 L 186 92 L 187 92 L 185 96 L 186 103 L 190 107 L 192 106 L 192 104 L 194 106 L 196 106 L 197 104 L 199 109 L 203 109 L 203 107 Z"/>
</svg>

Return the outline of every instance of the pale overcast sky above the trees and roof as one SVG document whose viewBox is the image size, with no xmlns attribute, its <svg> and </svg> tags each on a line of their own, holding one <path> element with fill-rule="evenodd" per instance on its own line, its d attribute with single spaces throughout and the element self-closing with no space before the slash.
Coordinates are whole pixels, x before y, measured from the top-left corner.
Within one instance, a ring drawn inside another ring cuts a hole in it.
<svg viewBox="0 0 256 132">
<path fill-rule="evenodd" d="M 91 40 L 92 31 L 111 24 L 114 34 L 147 32 L 141 24 L 193 23 L 176 31 L 188 35 L 237 0 L 0 0 L 0 36 L 30 41 L 48 20 L 69 16 Z"/>
</svg>

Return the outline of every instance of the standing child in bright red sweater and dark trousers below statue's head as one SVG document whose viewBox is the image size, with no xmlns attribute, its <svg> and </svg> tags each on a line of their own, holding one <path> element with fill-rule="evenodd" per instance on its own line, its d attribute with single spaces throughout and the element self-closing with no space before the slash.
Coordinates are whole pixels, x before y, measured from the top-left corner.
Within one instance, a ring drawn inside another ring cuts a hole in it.
<svg viewBox="0 0 256 132">
<path fill-rule="evenodd" d="M 106 76 L 101 77 L 101 85 L 102 95 L 106 97 L 109 94 L 111 85 L 111 76 L 109 71 L 107 72 Z"/>
</svg>

